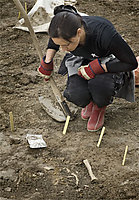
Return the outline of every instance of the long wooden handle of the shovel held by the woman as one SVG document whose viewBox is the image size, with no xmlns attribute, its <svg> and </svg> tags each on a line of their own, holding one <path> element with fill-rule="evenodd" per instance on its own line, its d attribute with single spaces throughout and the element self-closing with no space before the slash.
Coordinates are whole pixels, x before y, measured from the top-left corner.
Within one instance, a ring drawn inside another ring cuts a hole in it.
<svg viewBox="0 0 139 200">
<path fill-rule="evenodd" d="M 32 25 L 31 25 L 31 23 L 30 23 L 30 21 L 29 21 L 28 15 L 27 15 L 27 13 L 25 12 L 25 10 L 24 10 L 24 8 L 23 8 L 23 6 L 22 6 L 22 4 L 20 3 L 19 0 L 13 0 L 13 2 L 15 3 L 17 9 L 20 11 L 20 13 L 22 14 L 22 16 L 23 16 L 23 18 L 24 18 L 24 20 L 25 20 L 26 26 L 27 26 L 28 29 L 29 29 L 31 38 L 32 38 L 32 40 L 33 40 L 34 46 L 35 46 L 35 48 L 36 48 L 36 50 L 37 50 L 37 53 L 38 53 L 39 58 L 40 58 L 40 61 L 41 61 L 41 59 L 42 59 L 42 57 L 43 57 L 43 54 L 42 54 L 42 51 L 41 51 L 41 48 L 40 48 L 38 39 L 37 39 L 37 37 L 36 37 L 36 35 L 35 35 L 35 33 L 34 33 L 34 30 L 33 30 L 33 28 L 32 28 Z M 64 97 L 61 95 L 61 93 L 60 93 L 60 91 L 59 91 L 59 89 L 58 89 L 58 87 L 57 87 L 57 85 L 56 85 L 56 83 L 55 83 L 53 77 L 51 77 L 49 81 L 50 81 L 50 85 L 51 85 L 51 88 L 52 88 L 52 90 L 53 90 L 53 93 L 54 93 L 54 95 L 55 95 L 55 97 L 56 97 L 58 103 L 60 104 L 62 110 L 64 111 L 64 113 L 65 113 L 66 115 L 70 115 L 70 116 L 71 116 L 71 112 L 70 112 L 70 110 L 69 110 L 69 108 L 68 108 L 68 105 L 66 104 L 66 102 L 65 102 L 65 100 L 64 100 Z"/>
</svg>

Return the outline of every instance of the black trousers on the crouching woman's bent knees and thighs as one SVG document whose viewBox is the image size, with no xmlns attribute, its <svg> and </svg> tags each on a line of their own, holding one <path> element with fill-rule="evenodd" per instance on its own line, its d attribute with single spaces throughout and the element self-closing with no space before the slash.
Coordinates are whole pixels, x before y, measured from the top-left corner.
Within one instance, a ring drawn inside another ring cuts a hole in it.
<svg viewBox="0 0 139 200">
<path fill-rule="evenodd" d="M 101 108 L 112 103 L 113 97 L 124 85 L 124 79 L 124 72 L 98 74 L 89 81 L 73 75 L 68 78 L 64 97 L 82 108 L 90 101 Z"/>
</svg>

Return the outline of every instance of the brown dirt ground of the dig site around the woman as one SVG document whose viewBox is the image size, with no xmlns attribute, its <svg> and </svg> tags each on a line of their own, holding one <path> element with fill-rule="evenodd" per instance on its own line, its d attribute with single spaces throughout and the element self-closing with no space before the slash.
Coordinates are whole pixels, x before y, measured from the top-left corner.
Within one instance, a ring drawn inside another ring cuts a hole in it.
<svg viewBox="0 0 139 200">
<path fill-rule="evenodd" d="M 26 2 L 29 10 L 35 0 Z M 138 5 L 138 0 L 78 0 L 76 7 L 109 19 L 137 56 Z M 115 99 L 108 106 L 100 148 L 96 146 L 100 131 L 86 130 L 81 108 L 63 135 L 64 123 L 50 118 L 38 101 L 40 95 L 54 96 L 49 83 L 36 71 L 40 61 L 30 35 L 13 29 L 18 11 L 12 0 L 0 0 L 0 8 L 0 200 L 139 199 L 139 88 L 134 103 Z M 45 52 L 47 34 L 37 37 Z M 61 92 L 66 82 L 66 77 L 57 73 L 62 56 L 59 52 L 55 59 L 55 81 Z M 11 111 L 14 132 L 10 130 Z M 28 133 L 41 134 L 47 147 L 31 149 Z M 126 145 L 129 149 L 122 166 Z M 88 159 L 97 181 L 90 181 L 84 159 Z"/>
</svg>

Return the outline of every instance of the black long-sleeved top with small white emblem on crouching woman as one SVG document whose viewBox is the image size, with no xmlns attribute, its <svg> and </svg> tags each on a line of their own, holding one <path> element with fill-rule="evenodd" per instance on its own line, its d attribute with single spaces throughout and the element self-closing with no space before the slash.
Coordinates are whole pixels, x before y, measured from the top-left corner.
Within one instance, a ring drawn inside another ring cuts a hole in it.
<svg viewBox="0 0 139 200">
<path fill-rule="evenodd" d="M 108 72 L 126 72 L 137 68 L 135 55 L 126 41 L 116 31 L 113 24 L 105 18 L 98 16 L 83 16 L 86 41 L 71 53 L 93 60 L 113 54 L 116 59 L 106 63 Z M 50 38 L 48 49 L 59 50 Z"/>
</svg>

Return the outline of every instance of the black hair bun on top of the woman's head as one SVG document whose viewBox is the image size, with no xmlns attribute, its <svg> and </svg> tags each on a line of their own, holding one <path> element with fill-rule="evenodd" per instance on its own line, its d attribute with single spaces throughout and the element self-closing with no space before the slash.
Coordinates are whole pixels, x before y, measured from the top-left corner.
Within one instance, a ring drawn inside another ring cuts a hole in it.
<svg viewBox="0 0 139 200">
<path fill-rule="evenodd" d="M 71 5 L 60 5 L 60 6 L 56 6 L 54 8 L 54 15 L 56 15 L 57 13 L 60 13 L 60 12 L 70 12 L 70 13 L 73 13 L 73 14 L 77 14 L 77 10 L 75 7 L 71 6 Z"/>
</svg>

